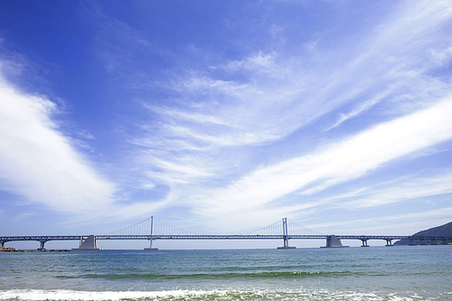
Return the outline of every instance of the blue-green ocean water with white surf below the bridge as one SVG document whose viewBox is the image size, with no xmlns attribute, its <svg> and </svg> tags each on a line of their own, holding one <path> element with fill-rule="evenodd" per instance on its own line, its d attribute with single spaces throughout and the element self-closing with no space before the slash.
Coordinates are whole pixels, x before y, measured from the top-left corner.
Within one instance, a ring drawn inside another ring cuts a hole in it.
<svg viewBox="0 0 452 301">
<path fill-rule="evenodd" d="M 0 253 L 0 300 L 452 300 L 452 246 Z"/>
</svg>

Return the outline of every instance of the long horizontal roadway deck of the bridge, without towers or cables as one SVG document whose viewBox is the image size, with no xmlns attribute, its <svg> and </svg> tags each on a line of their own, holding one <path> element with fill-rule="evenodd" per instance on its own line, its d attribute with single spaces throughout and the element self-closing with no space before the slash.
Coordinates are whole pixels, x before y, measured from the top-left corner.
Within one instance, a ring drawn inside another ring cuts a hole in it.
<svg viewBox="0 0 452 301">
<path fill-rule="evenodd" d="M 89 235 L 54 235 L 54 236 L 3 236 L 0 237 L 0 246 L 4 247 L 8 241 L 39 241 L 39 249 L 52 240 L 86 240 Z M 154 234 L 154 235 L 95 235 L 95 240 L 362 240 L 363 247 L 368 247 L 367 240 L 386 240 L 391 246 L 392 240 L 410 240 L 410 244 L 450 244 L 452 237 L 414 237 L 404 235 L 283 235 L 283 234 Z M 327 243 L 328 245 L 328 243 Z M 286 246 L 286 244 L 285 244 Z M 288 244 L 287 244 L 288 247 Z"/>
</svg>

